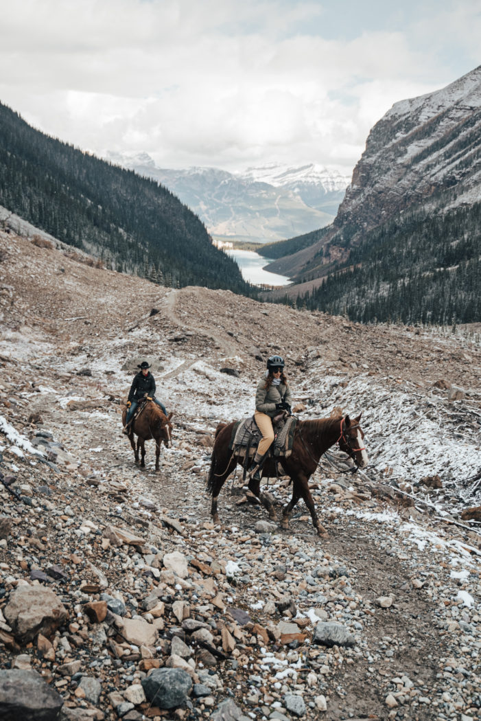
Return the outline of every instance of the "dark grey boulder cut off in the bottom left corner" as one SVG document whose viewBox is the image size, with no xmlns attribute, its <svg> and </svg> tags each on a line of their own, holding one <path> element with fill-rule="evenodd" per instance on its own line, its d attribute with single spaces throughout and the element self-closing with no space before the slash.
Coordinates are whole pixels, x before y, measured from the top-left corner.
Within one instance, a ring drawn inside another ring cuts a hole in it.
<svg viewBox="0 0 481 721">
<path fill-rule="evenodd" d="M 0 721 L 57 721 L 62 706 L 37 671 L 0 671 Z"/>
</svg>

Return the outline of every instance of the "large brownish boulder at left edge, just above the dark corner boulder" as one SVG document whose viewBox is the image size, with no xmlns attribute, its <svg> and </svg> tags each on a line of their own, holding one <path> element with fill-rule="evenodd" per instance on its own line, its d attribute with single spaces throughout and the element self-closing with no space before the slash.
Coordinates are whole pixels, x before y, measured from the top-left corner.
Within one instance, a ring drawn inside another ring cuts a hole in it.
<svg viewBox="0 0 481 721">
<path fill-rule="evenodd" d="M 68 616 L 53 590 L 40 585 L 17 586 L 10 594 L 4 615 L 14 634 L 24 642 L 39 632 L 50 636 Z"/>
</svg>

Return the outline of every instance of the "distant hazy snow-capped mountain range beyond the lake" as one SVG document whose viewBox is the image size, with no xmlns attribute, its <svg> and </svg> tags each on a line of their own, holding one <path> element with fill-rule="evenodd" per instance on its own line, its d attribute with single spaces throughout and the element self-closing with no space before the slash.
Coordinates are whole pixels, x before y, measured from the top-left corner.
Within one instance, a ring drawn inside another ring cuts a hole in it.
<svg viewBox="0 0 481 721">
<path fill-rule="evenodd" d="M 217 168 L 168 169 L 146 153 L 107 157 L 153 177 L 192 208 L 218 239 L 266 243 L 328 225 L 349 179 L 313 164 L 229 173 Z"/>
</svg>

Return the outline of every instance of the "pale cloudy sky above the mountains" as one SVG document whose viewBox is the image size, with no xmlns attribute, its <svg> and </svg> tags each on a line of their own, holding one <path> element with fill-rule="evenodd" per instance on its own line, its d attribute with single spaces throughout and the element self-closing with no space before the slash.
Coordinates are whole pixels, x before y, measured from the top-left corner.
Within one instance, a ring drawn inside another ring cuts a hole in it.
<svg viewBox="0 0 481 721">
<path fill-rule="evenodd" d="M 161 167 L 351 174 L 394 102 L 481 62 L 481 0 L 0 0 L 0 18 L 0 102 Z"/>
</svg>

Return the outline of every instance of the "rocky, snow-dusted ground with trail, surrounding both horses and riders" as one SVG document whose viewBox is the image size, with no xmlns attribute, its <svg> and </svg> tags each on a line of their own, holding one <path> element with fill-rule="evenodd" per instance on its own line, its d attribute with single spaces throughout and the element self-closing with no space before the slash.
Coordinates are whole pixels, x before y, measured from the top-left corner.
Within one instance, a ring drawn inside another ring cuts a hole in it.
<svg viewBox="0 0 481 721">
<path fill-rule="evenodd" d="M 14 231 L 0 259 L 1 719 L 480 717 L 479 328 L 175 291 Z M 215 428 L 271 353 L 299 417 L 363 413 L 371 465 L 333 448 L 311 479 L 327 540 L 240 474 L 210 520 Z M 157 474 L 121 433 L 143 358 L 174 412 Z"/>
</svg>

